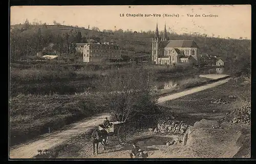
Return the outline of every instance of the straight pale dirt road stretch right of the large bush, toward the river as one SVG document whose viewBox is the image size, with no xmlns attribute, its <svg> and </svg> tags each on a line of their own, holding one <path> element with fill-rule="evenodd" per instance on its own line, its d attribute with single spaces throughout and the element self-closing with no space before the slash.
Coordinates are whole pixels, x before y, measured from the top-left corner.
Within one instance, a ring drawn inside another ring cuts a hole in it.
<svg viewBox="0 0 256 164">
<path fill-rule="evenodd" d="M 184 90 L 184 91 L 181 91 L 181 92 L 178 92 L 178 93 L 174 93 L 173 95 L 168 95 L 168 96 L 165 96 L 165 97 L 161 97 L 161 98 L 158 99 L 158 103 L 162 103 L 162 102 L 165 102 L 165 101 L 168 101 L 168 100 L 178 99 L 180 97 L 190 95 L 192 93 L 199 92 L 199 91 L 204 90 L 204 89 L 212 88 L 212 87 L 224 84 L 224 83 L 228 82 L 228 80 L 230 80 L 230 78 L 225 79 L 225 80 L 221 80 L 221 81 L 218 81 L 218 82 L 215 82 L 215 83 L 195 87 L 195 88 L 192 88 L 192 89 L 189 89 L 189 90 Z"/>
</svg>

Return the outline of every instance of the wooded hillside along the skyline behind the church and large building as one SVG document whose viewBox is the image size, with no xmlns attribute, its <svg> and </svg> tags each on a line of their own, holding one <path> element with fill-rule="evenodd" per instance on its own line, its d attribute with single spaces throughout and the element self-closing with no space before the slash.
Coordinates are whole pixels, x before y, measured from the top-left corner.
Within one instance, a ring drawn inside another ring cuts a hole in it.
<svg viewBox="0 0 256 164">
<path fill-rule="evenodd" d="M 123 55 L 136 53 L 151 54 L 152 37 L 154 31 L 127 30 L 100 30 L 92 27 L 91 30 L 78 28 L 78 26 L 61 26 L 54 22 L 55 26 L 46 24 L 31 25 L 25 21 L 22 28 L 13 28 L 11 31 L 10 47 L 11 59 L 21 56 L 33 56 L 41 51 L 49 43 L 55 43 L 54 49 L 60 54 L 69 52 L 68 46 L 73 42 L 109 41 L 118 44 L 123 50 Z M 55 28 L 53 28 L 55 27 Z M 88 27 L 89 28 L 89 27 Z M 162 35 L 162 31 L 160 35 Z M 199 46 L 199 54 L 221 57 L 229 70 L 250 72 L 251 40 L 231 39 L 207 36 L 205 34 L 177 34 L 168 32 L 170 40 L 194 39 Z"/>
</svg>

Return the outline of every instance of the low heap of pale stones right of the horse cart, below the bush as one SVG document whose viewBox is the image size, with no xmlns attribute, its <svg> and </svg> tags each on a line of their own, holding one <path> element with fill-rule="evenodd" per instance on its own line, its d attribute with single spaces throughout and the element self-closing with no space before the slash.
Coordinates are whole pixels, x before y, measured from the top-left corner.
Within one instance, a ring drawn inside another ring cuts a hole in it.
<svg viewBox="0 0 256 164">
<path fill-rule="evenodd" d="M 155 128 L 154 133 L 170 133 L 170 132 L 180 132 L 185 133 L 188 125 L 184 124 L 182 121 L 168 120 L 158 123 L 157 128 Z"/>
</svg>

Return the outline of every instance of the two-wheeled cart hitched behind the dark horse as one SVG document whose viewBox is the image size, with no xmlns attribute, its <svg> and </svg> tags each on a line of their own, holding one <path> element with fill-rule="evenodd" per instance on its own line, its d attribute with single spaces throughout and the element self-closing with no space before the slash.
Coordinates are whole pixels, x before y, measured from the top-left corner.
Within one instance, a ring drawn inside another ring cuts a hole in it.
<svg viewBox="0 0 256 164">
<path fill-rule="evenodd" d="M 124 128 L 125 122 L 110 122 L 108 127 L 105 127 L 103 124 L 99 125 L 99 130 L 105 130 L 108 135 L 106 136 L 106 140 L 102 141 L 101 144 L 108 143 L 108 136 L 117 136 L 118 143 L 123 146 L 126 142 L 126 131 Z"/>
</svg>

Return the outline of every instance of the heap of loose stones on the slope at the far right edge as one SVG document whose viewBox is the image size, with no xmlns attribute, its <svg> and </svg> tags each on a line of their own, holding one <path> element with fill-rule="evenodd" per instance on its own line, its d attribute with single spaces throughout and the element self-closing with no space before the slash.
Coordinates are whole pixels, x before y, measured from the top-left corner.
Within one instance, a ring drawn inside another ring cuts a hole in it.
<svg viewBox="0 0 256 164">
<path fill-rule="evenodd" d="M 221 122 L 230 123 L 243 123 L 249 124 L 251 120 L 251 105 L 245 103 L 240 109 L 235 109 L 231 112 L 226 113 L 226 116 L 221 119 Z"/>
</svg>

